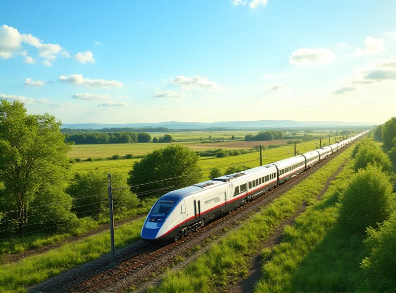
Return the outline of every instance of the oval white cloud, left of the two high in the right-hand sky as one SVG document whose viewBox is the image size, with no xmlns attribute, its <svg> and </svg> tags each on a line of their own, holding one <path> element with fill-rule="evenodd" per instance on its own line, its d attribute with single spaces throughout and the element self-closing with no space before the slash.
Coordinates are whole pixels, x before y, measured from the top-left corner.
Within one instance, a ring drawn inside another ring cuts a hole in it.
<svg viewBox="0 0 396 293">
<path fill-rule="evenodd" d="M 293 65 L 316 65 L 330 63 L 335 58 L 336 55 L 330 49 L 302 48 L 292 53 L 289 62 Z"/>
</svg>

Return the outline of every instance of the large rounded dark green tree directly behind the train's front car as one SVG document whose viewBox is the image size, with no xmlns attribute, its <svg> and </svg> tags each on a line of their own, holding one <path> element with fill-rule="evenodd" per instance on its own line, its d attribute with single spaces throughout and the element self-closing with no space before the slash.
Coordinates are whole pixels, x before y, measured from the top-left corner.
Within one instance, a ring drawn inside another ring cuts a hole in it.
<svg viewBox="0 0 396 293">
<path fill-rule="evenodd" d="M 188 147 L 169 145 L 156 149 L 134 163 L 128 185 L 136 186 L 131 187 L 131 192 L 146 198 L 196 184 L 202 178 L 198 160 L 199 156 Z"/>
</svg>

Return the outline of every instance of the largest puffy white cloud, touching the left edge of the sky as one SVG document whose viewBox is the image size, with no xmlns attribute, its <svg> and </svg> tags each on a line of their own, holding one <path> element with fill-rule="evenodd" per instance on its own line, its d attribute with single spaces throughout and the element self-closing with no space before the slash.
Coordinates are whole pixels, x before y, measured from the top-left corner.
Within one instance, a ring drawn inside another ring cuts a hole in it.
<svg viewBox="0 0 396 293">
<path fill-rule="evenodd" d="M 10 58 L 14 53 L 26 56 L 26 50 L 17 53 L 17 51 L 21 48 L 22 43 L 37 48 L 39 50 L 38 55 L 47 61 L 43 62 L 46 66 L 50 66 L 50 61 L 55 60 L 56 55 L 59 53 L 62 56 L 68 56 L 68 53 L 58 44 L 45 44 L 43 41 L 40 41 L 40 39 L 32 36 L 31 34 L 20 34 L 17 29 L 7 25 L 0 27 L 1 58 Z M 32 61 L 31 59 L 29 60 Z M 27 61 L 27 63 L 32 62 Z"/>
</svg>

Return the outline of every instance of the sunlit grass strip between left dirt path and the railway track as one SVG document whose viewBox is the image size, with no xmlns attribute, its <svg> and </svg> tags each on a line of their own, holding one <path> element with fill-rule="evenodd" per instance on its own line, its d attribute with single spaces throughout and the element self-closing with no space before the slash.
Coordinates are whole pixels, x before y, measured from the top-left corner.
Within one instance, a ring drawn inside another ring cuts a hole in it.
<svg viewBox="0 0 396 293">
<path fill-rule="evenodd" d="M 115 246 L 122 247 L 140 239 L 144 219 L 115 228 Z M 0 293 L 23 291 L 79 264 L 110 251 L 110 234 L 103 232 L 46 253 L 29 256 L 15 264 L 0 266 Z"/>
</svg>

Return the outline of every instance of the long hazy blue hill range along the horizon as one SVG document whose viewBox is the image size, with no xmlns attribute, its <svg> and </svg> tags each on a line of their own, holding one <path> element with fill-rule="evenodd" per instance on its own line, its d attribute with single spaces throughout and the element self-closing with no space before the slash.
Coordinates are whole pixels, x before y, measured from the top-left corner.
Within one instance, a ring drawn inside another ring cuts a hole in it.
<svg viewBox="0 0 396 293">
<path fill-rule="evenodd" d="M 164 127 L 169 129 L 207 129 L 223 127 L 227 129 L 265 129 L 265 128 L 323 128 L 323 127 L 346 127 L 346 126 L 371 126 L 373 122 L 342 122 L 342 121 L 293 121 L 293 120 L 257 120 L 257 121 L 219 121 L 219 122 L 160 122 L 160 123 L 125 123 L 125 124 L 100 124 L 100 123 L 76 123 L 62 124 L 62 128 L 143 128 Z"/>
</svg>

